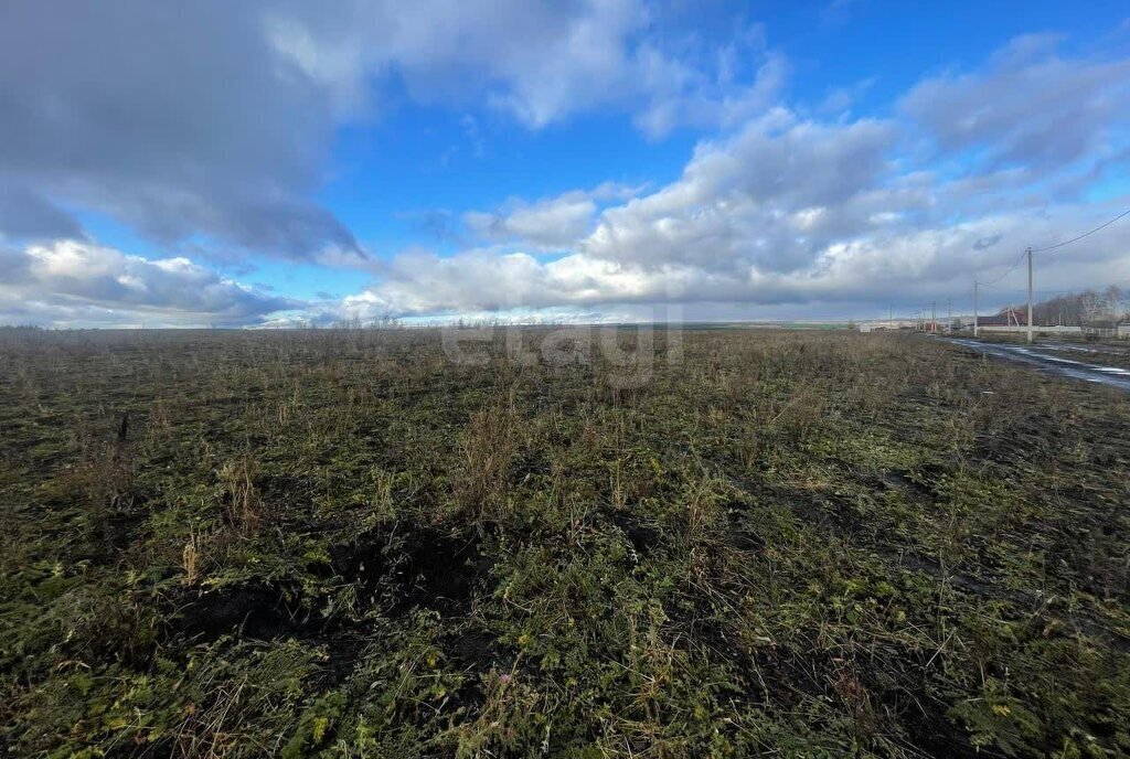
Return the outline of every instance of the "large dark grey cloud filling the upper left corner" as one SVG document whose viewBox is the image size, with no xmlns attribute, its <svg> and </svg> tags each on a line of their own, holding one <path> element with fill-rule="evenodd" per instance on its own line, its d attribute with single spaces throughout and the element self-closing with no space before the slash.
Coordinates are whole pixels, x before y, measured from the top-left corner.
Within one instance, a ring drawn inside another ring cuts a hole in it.
<svg viewBox="0 0 1130 759">
<path fill-rule="evenodd" d="M 0 7 L 0 185 L 154 238 L 303 258 L 355 246 L 310 194 L 333 121 L 251 3 Z M 45 207 L 51 208 L 51 207 Z M 36 215 L 73 234 L 60 213 Z M 9 236 L 36 236 L 0 215 Z M 38 225 L 43 226 L 43 224 Z"/>
</svg>

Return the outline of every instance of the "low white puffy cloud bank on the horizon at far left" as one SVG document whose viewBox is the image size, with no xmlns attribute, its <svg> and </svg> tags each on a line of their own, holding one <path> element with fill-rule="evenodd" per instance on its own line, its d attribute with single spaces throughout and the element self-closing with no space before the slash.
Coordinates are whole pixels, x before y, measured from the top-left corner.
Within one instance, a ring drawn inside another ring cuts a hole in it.
<svg viewBox="0 0 1130 759">
<path fill-rule="evenodd" d="M 303 307 L 184 258 L 147 260 L 75 239 L 0 248 L 0 322 L 242 325 Z"/>
</svg>

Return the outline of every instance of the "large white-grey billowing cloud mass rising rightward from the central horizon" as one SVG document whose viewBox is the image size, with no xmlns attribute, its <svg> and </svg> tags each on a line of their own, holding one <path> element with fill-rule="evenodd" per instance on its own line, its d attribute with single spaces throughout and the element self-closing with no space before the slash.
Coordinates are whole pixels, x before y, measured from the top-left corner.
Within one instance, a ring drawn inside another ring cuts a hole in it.
<svg viewBox="0 0 1130 759">
<path fill-rule="evenodd" d="M 1111 76 L 1124 63 L 1063 61 L 1052 50 L 1033 51 L 1032 44 L 1014 43 L 980 75 L 923 82 L 903 99 L 903 112 L 888 120 L 820 122 L 774 108 L 728 137 L 701 141 L 670 184 L 603 208 L 589 234 L 559 258 L 514 250 L 449 258 L 417 253 L 393 262 L 393 276 L 347 305 L 428 314 L 591 312 L 660 303 L 876 307 L 947 294 L 960 298 L 972 289 L 974 272 L 982 280 L 1002 274 L 1025 245 L 1066 239 L 1128 202 L 1125 197 L 1086 202 L 1101 176 L 1096 166 L 1109 162 L 1125 138 L 1124 106 L 1116 101 L 1128 79 Z M 1003 107 L 1014 114 L 1041 107 L 1054 113 L 1062 105 L 1059 96 L 1067 110 L 1092 104 L 1084 107 L 1087 117 L 1077 132 L 1057 136 L 1054 148 L 1033 151 L 1029 143 L 1052 123 L 1071 131 L 1059 115 L 1043 125 L 977 113 L 967 124 L 944 117 L 960 111 L 950 98 L 979 93 L 975 99 L 992 102 L 1002 80 L 1037 77 L 1046 78 L 1046 88 L 1016 86 L 1000 95 Z M 1059 94 L 1050 104 L 1045 89 Z M 944 105 L 927 107 L 931 97 Z M 915 160 L 906 146 L 923 137 L 941 140 L 950 154 Z M 982 141 L 999 150 L 1001 160 L 962 152 Z M 1001 166 L 1005 157 L 1023 165 Z M 1054 194 L 1048 194 L 1050 189 Z M 591 207 L 583 195 L 566 194 L 516 210 L 525 215 L 519 219 L 546 221 L 532 225 L 539 232 L 567 230 L 559 243 L 588 224 Z M 513 232 L 512 216 L 473 220 L 523 237 Z M 524 237 L 536 239 L 529 228 Z M 1041 259 L 1041 282 L 1055 290 L 1125 283 L 1128 246 L 1130 226 L 1111 227 L 1069 255 Z M 1006 279 L 998 297 L 1015 299 L 1022 287 L 1022 279 Z"/>
</svg>

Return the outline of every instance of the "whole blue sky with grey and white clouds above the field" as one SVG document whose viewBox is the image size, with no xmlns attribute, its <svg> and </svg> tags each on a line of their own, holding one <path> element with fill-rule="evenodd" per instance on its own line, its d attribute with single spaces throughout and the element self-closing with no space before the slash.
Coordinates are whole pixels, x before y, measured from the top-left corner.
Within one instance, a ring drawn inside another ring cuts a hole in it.
<svg viewBox="0 0 1130 759">
<path fill-rule="evenodd" d="M 1124 0 L 0 3 L 0 324 L 968 313 L 1127 209 Z"/>
</svg>

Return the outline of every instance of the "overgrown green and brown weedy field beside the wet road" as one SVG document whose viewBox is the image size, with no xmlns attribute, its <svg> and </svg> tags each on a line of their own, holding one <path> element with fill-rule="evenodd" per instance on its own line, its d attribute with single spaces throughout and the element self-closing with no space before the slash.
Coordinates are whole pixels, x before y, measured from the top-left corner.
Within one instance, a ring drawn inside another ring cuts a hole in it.
<svg viewBox="0 0 1130 759">
<path fill-rule="evenodd" d="M 0 748 L 1130 756 L 1130 396 L 664 338 L 0 333 Z"/>
</svg>

